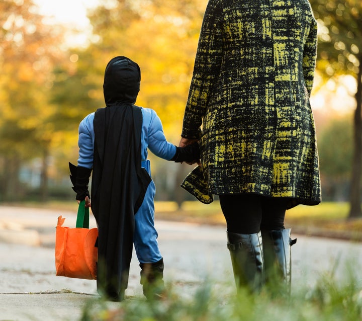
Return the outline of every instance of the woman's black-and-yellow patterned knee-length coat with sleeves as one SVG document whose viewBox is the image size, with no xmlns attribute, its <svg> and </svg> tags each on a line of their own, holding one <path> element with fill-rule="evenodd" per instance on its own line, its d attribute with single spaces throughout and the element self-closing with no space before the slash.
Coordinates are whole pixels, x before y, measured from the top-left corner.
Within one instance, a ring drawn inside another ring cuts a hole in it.
<svg viewBox="0 0 362 321">
<path fill-rule="evenodd" d="M 209 0 L 182 132 L 200 138 L 208 194 L 320 202 L 316 45 L 308 0 Z"/>
</svg>

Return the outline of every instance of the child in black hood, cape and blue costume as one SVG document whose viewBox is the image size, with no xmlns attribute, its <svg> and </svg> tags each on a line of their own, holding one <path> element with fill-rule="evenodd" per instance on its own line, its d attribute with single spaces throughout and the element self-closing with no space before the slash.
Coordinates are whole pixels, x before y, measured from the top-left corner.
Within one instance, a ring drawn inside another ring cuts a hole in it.
<svg viewBox="0 0 362 321">
<path fill-rule="evenodd" d="M 90 206 L 98 230 L 97 290 L 111 300 L 123 300 L 133 244 L 141 267 L 144 295 L 163 292 L 163 259 L 154 227 L 155 185 L 150 177 L 147 148 L 174 162 L 197 162 L 199 145 L 169 143 L 155 111 L 135 106 L 141 73 L 127 57 L 113 58 L 106 67 L 107 107 L 86 116 L 79 125 L 78 166 L 70 166 L 76 199 Z"/>
</svg>

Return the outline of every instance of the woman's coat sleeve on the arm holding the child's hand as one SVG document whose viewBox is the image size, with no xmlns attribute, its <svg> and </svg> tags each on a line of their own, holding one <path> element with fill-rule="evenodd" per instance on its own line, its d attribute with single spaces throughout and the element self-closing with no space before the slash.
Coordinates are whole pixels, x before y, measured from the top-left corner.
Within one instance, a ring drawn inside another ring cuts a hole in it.
<svg viewBox="0 0 362 321">
<path fill-rule="evenodd" d="M 207 103 L 219 74 L 223 47 L 223 9 L 210 0 L 205 11 L 181 136 L 200 138 Z"/>
</svg>

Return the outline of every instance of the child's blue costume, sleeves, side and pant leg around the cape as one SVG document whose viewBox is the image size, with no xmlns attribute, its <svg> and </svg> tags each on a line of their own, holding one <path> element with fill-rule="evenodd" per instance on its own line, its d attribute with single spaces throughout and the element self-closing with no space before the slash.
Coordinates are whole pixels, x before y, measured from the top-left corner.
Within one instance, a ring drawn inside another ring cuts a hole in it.
<svg viewBox="0 0 362 321">
<path fill-rule="evenodd" d="M 142 107 L 141 111 L 141 165 L 151 176 L 150 161 L 147 159 L 147 148 L 156 156 L 169 161 L 176 153 L 176 146 L 166 140 L 161 120 L 156 112 Z M 94 115 L 95 113 L 87 115 L 79 124 L 78 166 L 88 169 L 93 167 Z M 151 181 L 142 205 L 135 215 L 133 243 L 140 263 L 153 263 L 162 259 L 157 243 L 157 231 L 154 228 L 154 195 L 155 185 Z"/>
</svg>

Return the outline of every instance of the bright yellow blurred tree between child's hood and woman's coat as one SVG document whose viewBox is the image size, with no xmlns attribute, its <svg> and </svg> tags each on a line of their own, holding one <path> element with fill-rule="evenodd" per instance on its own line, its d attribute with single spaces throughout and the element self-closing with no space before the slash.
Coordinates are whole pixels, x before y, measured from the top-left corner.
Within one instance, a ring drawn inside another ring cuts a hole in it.
<svg viewBox="0 0 362 321">
<path fill-rule="evenodd" d="M 167 137 L 177 143 L 206 4 L 120 0 L 89 14 L 97 41 L 86 49 L 93 56 L 88 63 L 101 71 L 94 79 L 103 84 L 104 68 L 114 56 L 136 61 L 142 73 L 137 104 L 155 109 Z"/>
</svg>

